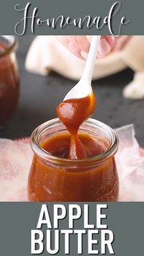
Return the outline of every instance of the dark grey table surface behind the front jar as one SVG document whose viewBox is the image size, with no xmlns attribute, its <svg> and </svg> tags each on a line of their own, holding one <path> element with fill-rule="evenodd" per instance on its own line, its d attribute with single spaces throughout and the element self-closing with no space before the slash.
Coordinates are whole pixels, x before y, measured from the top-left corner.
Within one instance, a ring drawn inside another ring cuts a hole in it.
<svg viewBox="0 0 144 256">
<path fill-rule="evenodd" d="M 19 37 L 17 60 L 21 76 L 19 107 L 13 118 L 1 129 L 1 138 L 30 136 L 37 125 L 56 117 L 55 107 L 63 100 L 76 81 L 71 81 L 55 72 L 49 76 L 30 74 L 24 69 L 24 59 L 33 36 Z M 93 118 L 112 128 L 134 123 L 136 138 L 144 146 L 144 100 L 127 100 L 122 89 L 132 80 L 130 69 L 93 81 L 97 97 L 97 109 Z"/>
</svg>

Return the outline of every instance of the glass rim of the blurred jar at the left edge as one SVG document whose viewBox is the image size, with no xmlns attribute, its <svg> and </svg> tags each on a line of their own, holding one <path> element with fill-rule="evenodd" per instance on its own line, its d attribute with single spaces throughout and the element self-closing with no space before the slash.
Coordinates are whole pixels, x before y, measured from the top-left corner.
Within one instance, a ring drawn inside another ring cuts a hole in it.
<svg viewBox="0 0 144 256">
<path fill-rule="evenodd" d="M 18 40 L 14 35 L 0 35 L 0 41 L 1 37 L 7 40 L 9 42 L 9 45 L 7 45 L 6 48 L 0 52 L 0 58 L 8 55 L 9 53 L 12 53 L 12 51 L 17 49 L 18 45 Z"/>
</svg>

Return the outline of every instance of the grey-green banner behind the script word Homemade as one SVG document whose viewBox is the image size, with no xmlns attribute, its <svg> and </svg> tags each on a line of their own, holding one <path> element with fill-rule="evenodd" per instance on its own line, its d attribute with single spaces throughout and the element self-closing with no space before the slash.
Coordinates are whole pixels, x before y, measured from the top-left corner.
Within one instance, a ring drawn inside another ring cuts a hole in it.
<svg viewBox="0 0 144 256">
<path fill-rule="evenodd" d="M 109 10 L 117 0 L 33 0 L 30 1 L 30 9 L 27 16 L 31 17 L 32 12 L 35 7 L 37 7 L 38 18 L 52 19 L 63 15 L 63 17 L 71 17 L 71 20 L 74 18 L 78 19 L 81 17 L 84 19 L 86 15 L 90 15 L 92 19 L 94 17 L 107 17 Z M 17 22 L 20 22 L 24 17 L 24 12 L 17 12 L 14 9 L 16 4 L 20 4 L 18 9 L 24 9 L 28 0 L 1 0 L 0 8 L 0 31 L 1 35 L 12 35 L 15 34 L 14 27 Z M 130 19 L 130 22 L 122 26 L 120 35 L 143 35 L 143 9 L 144 1 L 143 0 L 120 0 L 121 7 L 117 14 L 112 17 L 112 30 L 114 35 L 118 34 L 120 20 L 122 17 L 126 17 L 126 20 Z M 35 19 L 37 21 L 37 19 Z M 22 33 L 23 23 L 19 25 L 18 33 Z M 48 27 L 45 24 L 41 26 L 35 25 L 35 35 L 109 35 L 110 31 L 108 26 L 105 25 L 102 29 L 97 30 L 96 25 L 91 28 L 87 28 L 86 25 L 82 29 L 74 27 L 73 25 L 68 25 L 64 28 L 60 28 L 59 24 L 55 29 Z M 27 20 L 27 29 L 25 34 L 32 35 L 31 30 L 31 19 Z"/>
</svg>

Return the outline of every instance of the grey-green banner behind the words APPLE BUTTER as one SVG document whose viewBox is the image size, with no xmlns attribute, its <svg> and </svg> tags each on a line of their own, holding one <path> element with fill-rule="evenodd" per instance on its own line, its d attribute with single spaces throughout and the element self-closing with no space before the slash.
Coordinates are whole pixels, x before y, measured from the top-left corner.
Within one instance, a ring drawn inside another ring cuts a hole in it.
<svg viewBox="0 0 144 256">
<path fill-rule="evenodd" d="M 53 203 L 47 203 L 50 219 L 53 225 Z M 63 203 L 68 209 L 68 203 Z M 83 211 L 84 203 L 78 203 Z M 114 232 L 115 256 L 143 256 L 143 203 L 107 203 L 108 208 L 102 213 L 107 214 L 107 219 L 102 224 L 107 224 L 108 229 Z M 40 216 L 42 203 L 0 203 L 0 248 L 1 256 L 30 256 L 30 231 L 36 229 Z M 68 212 L 68 211 L 67 211 Z M 96 224 L 96 203 L 89 203 L 89 224 Z M 45 225 L 42 231 L 45 234 Z M 68 214 L 66 219 L 60 220 L 59 229 L 68 229 Z M 84 211 L 77 221 L 74 229 L 84 229 Z M 78 255 L 76 235 L 70 238 L 70 255 Z M 99 237 L 94 236 L 94 239 Z M 46 242 L 46 239 L 44 240 Z M 84 237 L 83 256 L 87 253 L 87 238 Z M 44 242 L 44 243 L 45 243 Z M 99 249 L 99 244 L 96 246 Z M 64 256 L 64 240 L 60 235 L 60 251 L 58 256 Z M 95 246 L 94 246 L 95 249 Z M 42 256 L 48 256 L 45 250 Z M 100 254 L 101 255 L 101 254 Z M 109 256 L 109 252 L 106 254 Z"/>
</svg>

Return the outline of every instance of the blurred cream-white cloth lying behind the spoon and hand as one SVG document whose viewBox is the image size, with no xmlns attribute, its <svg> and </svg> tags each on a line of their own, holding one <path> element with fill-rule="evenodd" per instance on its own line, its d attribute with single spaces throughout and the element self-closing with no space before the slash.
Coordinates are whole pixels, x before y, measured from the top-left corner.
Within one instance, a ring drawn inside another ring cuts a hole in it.
<svg viewBox="0 0 144 256">
<path fill-rule="evenodd" d="M 127 84 L 124 97 L 143 99 L 144 97 L 144 36 L 132 36 L 125 47 L 105 58 L 96 59 L 93 79 L 115 74 L 130 67 L 136 74 Z M 37 36 L 27 53 L 25 68 L 35 74 L 46 76 L 56 71 L 69 79 L 78 80 L 84 70 L 85 61 L 74 56 L 54 36 Z"/>
</svg>

